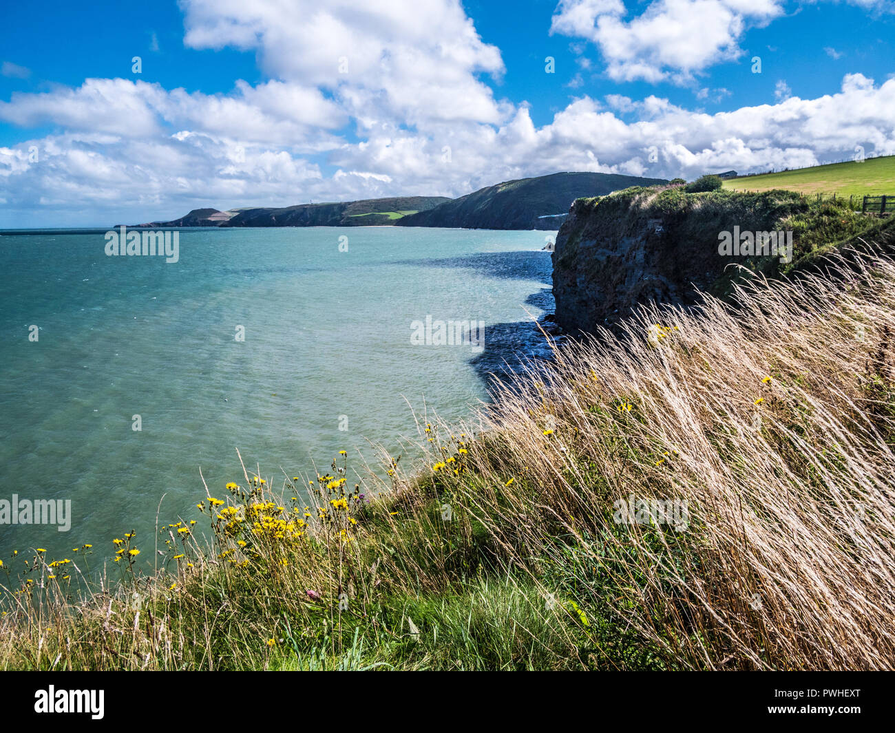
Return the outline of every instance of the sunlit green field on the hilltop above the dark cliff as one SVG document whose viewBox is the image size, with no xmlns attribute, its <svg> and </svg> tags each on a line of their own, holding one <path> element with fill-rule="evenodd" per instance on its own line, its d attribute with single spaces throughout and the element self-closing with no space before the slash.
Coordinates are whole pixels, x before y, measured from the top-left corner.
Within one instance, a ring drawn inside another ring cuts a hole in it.
<svg viewBox="0 0 895 733">
<path fill-rule="evenodd" d="M 734 191 L 782 188 L 801 193 L 836 193 L 839 196 L 895 196 L 895 156 L 750 175 L 725 181 L 724 188 Z"/>
</svg>

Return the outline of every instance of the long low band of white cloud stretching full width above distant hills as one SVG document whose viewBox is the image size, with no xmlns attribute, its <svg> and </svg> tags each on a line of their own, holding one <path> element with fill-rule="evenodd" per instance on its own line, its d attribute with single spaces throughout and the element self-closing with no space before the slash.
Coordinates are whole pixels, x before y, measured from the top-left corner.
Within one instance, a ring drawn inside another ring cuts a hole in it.
<svg viewBox="0 0 895 733">
<path fill-rule="evenodd" d="M 895 79 L 877 85 L 861 74 L 844 76 L 835 94 L 713 115 L 654 96 L 635 101 L 609 95 L 605 104 L 583 97 L 541 127 L 524 105 L 501 125 L 447 125 L 430 132 L 377 126 L 362 141 L 341 141 L 328 152 L 335 175 L 324 175 L 288 145 L 237 143 L 216 132 L 180 129 L 149 138 L 68 132 L 0 149 L 0 196 L 7 200 L 6 217 L 25 211 L 46 221 L 52 212 L 62 217 L 60 224 L 74 224 L 76 218 L 66 217 L 88 211 L 94 217 L 88 223 L 118 223 L 170 218 L 203 206 L 456 196 L 562 170 L 692 178 L 718 170 L 811 166 L 849 158 L 857 145 L 895 154 L 893 120 Z M 39 151 L 36 163 L 28 158 L 31 145 Z M 651 149 L 658 151 L 656 162 L 649 159 Z M 97 222 L 103 214 L 107 218 Z"/>
</svg>

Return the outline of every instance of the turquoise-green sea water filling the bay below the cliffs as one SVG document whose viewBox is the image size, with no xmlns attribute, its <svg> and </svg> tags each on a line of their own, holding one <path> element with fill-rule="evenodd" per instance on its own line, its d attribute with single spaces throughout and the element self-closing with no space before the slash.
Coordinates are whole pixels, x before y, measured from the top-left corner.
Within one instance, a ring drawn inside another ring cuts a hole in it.
<svg viewBox="0 0 895 733">
<path fill-rule="evenodd" d="M 399 450 L 412 407 L 465 417 L 504 359 L 545 353 L 526 309 L 552 310 L 547 235 L 185 229 L 167 264 L 107 257 L 100 231 L 4 233 L 0 499 L 71 499 L 72 529 L 0 524 L 0 558 L 106 558 L 132 529 L 151 550 L 159 502 L 161 523 L 199 518 L 200 468 L 212 495 L 242 482 L 234 447 L 277 486 Z M 427 315 L 484 321 L 484 352 L 413 345 Z"/>
</svg>

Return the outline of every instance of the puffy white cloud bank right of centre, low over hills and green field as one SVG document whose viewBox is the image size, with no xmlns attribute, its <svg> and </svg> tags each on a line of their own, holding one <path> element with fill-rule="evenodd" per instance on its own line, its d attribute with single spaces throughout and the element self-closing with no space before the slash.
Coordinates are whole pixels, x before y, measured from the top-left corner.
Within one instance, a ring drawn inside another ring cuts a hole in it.
<svg viewBox="0 0 895 733">
<path fill-rule="evenodd" d="M 441 141 L 409 133 L 400 140 L 373 135 L 337 151 L 337 160 L 348 167 L 385 169 L 396 182 L 413 180 L 417 190 L 456 195 L 561 170 L 695 177 L 731 168 L 746 173 L 816 165 L 848 158 L 858 144 L 875 154 L 895 153 L 895 80 L 876 86 L 859 74 L 848 75 L 836 94 L 714 115 L 657 97 L 634 101 L 609 95 L 605 103 L 577 99 L 540 128 L 522 107 L 496 132 L 489 126 L 457 131 L 450 164 L 440 161 Z M 656 163 L 649 162 L 652 148 L 659 152 Z"/>
</svg>

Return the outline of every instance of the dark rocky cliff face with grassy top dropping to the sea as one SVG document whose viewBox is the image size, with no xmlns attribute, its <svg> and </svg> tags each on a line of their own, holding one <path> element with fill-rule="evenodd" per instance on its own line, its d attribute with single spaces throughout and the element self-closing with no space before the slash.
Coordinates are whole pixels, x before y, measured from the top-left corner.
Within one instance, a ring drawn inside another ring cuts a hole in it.
<svg viewBox="0 0 895 733">
<path fill-rule="evenodd" d="M 786 267 L 779 257 L 722 255 L 719 235 L 795 228 L 798 258 L 805 247 L 814 248 L 802 230 L 825 233 L 827 226 L 836 241 L 837 232 L 858 226 L 851 212 L 833 208 L 813 211 L 809 200 L 792 192 L 686 193 L 678 187 L 575 200 L 552 254 L 556 320 L 568 331 L 593 332 L 612 328 L 638 303 L 695 303 L 697 289 L 725 294 L 734 277 L 772 277 Z M 746 269 L 727 268 L 733 262 Z"/>
</svg>

